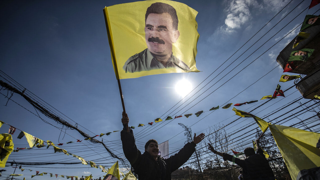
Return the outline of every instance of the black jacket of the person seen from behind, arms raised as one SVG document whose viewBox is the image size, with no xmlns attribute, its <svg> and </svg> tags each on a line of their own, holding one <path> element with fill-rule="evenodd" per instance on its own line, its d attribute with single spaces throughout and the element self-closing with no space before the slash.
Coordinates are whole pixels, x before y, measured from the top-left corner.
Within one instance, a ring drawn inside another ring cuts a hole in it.
<svg viewBox="0 0 320 180">
<path fill-rule="evenodd" d="M 223 153 L 223 156 L 224 160 L 232 161 L 233 159 L 233 156 L 227 153 Z M 258 148 L 257 154 L 244 160 L 234 158 L 234 162 L 242 167 L 243 180 L 275 180 L 273 171 L 261 148 Z"/>
</svg>

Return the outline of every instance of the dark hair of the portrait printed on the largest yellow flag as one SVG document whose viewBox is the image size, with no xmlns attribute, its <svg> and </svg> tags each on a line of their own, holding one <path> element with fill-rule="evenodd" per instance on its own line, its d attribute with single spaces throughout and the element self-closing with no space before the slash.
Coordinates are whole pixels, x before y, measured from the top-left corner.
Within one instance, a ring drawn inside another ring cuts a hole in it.
<svg viewBox="0 0 320 180">
<path fill-rule="evenodd" d="M 145 22 L 147 21 L 148 15 L 150 13 L 162 14 L 165 12 L 169 13 L 172 18 L 173 29 L 178 30 L 178 16 L 176 9 L 174 9 L 171 5 L 165 3 L 158 2 L 151 4 L 151 6 L 149 6 L 147 9 Z"/>
</svg>

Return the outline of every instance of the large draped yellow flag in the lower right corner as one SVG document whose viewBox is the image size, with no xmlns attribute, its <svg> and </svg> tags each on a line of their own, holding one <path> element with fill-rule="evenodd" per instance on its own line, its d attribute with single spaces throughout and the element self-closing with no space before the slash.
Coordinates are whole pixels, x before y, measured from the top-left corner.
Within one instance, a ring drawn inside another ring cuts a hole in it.
<svg viewBox="0 0 320 180">
<path fill-rule="evenodd" d="M 320 133 L 275 124 L 269 128 L 292 179 L 303 169 L 320 167 L 320 149 L 316 148 Z"/>
</svg>

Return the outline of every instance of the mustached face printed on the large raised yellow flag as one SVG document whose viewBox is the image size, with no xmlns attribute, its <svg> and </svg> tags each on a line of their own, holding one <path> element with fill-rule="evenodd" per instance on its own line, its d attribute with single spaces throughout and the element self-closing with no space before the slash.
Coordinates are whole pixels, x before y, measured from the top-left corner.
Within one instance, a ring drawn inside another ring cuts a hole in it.
<svg viewBox="0 0 320 180">
<path fill-rule="evenodd" d="M 173 29 L 172 18 L 167 12 L 150 13 L 144 31 L 149 51 L 160 56 L 171 55 L 172 43 L 175 43 L 180 35 L 178 30 Z"/>
</svg>

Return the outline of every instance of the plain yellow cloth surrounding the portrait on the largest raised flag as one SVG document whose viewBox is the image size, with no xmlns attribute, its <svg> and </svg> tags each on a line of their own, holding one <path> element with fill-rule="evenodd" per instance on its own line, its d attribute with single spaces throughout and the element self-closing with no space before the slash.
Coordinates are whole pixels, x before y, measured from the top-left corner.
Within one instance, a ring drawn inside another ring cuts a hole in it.
<svg viewBox="0 0 320 180">
<path fill-rule="evenodd" d="M 147 48 L 145 38 L 145 14 L 147 8 L 156 2 L 170 4 L 177 11 L 178 30 L 180 36 L 172 44 L 172 53 L 175 57 L 186 63 L 192 72 L 200 72 L 196 68 L 195 56 L 196 44 L 199 38 L 197 32 L 197 11 L 186 4 L 174 1 L 139 1 L 133 3 L 116 4 L 103 9 L 108 40 L 111 51 L 111 59 L 117 79 L 138 78 L 141 76 L 185 72 L 176 68 L 157 69 L 126 73 L 123 70 L 124 63 L 134 54 Z"/>
</svg>

